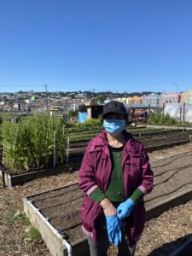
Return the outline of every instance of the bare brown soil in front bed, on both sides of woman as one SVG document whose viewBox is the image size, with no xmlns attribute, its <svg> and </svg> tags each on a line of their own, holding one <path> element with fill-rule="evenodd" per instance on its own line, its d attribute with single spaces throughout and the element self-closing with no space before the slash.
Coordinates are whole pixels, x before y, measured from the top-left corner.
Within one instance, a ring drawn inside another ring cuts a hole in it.
<svg viewBox="0 0 192 256">
<path fill-rule="evenodd" d="M 192 190 L 192 151 L 156 160 L 151 166 L 154 171 L 154 190 L 145 197 L 146 207 L 153 207 L 172 195 Z M 83 236 L 79 228 L 79 209 L 83 196 L 78 185 L 74 184 L 32 196 L 29 200 L 44 217 L 49 218 L 56 230 L 64 233 L 69 241 L 76 241 Z"/>
</svg>

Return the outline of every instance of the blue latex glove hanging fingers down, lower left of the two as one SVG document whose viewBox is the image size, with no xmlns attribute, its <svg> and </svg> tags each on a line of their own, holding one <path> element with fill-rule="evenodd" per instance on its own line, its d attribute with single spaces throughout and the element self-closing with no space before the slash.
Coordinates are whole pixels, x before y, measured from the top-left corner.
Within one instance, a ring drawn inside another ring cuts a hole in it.
<svg viewBox="0 0 192 256">
<path fill-rule="evenodd" d="M 108 240 L 113 243 L 113 245 L 118 246 L 119 241 L 121 241 L 122 234 L 121 234 L 121 228 L 123 226 L 123 221 L 117 217 L 117 215 L 114 216 L 108 216 L 106 215 L 107 220 L 107 229 L 108 229 Z"/>
</svg>

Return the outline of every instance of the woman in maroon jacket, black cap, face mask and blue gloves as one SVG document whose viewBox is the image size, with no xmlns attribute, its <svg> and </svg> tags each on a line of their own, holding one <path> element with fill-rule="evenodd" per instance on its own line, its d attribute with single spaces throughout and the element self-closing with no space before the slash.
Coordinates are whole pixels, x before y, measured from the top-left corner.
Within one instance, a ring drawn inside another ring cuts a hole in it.
<svg viewBox="0 0 192 256">
<path fill-rule="evenodd" d="M 153 189 L 153 172 L 143 144 L 125 131 L 125 106 L 103 106 L 104 131 L 87 146 L 79 169 L 79 188 L 86 195 L 81 222 L 90 256 L 134 255 L 144 227 L 143 195 Z"/>
</svg>

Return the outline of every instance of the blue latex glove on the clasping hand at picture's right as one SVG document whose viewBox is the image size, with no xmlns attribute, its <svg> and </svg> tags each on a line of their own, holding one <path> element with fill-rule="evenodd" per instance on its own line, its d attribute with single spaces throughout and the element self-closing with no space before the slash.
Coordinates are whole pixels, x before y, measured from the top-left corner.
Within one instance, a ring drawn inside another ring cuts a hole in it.
<svg viewBox="0 0 192 256">
<path fill-rule="evenodd" d="M 119 219 L 127 218 L 130 216 L 132 208 L 135 206 L 134 201 L 128 198 L 117 207 L 117 216 Z"/>
</svg>

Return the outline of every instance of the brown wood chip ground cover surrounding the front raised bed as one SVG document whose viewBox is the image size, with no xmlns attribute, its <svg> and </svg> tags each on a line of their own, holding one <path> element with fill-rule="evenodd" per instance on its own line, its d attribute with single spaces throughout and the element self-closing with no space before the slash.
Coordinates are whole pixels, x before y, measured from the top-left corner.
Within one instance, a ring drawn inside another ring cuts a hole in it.
<svg viewBox="0 0 192 256">
<path fill-rule="evenodd" d="M 149 154 L 150 160 L 160 160 L 168 156 L 189 152 L 192 144 L 166 148 Z M 42 240 L 30 240 L 27 237 L 28 226 L 24 224 L 22 212 L 22 197 L 44 192 L 74 183 L 78 173 L 61 174 L 44 177 L 15 187 L 12 190 L 3 189 L 0 184 L 0 255 L 47 255 L 49 251 Z M 22 216 L 22 215 L 21 215 Z M 175 207 L 146 223 L 142 239 L 138 242 L 136 256 L 167 255 L 172 252 L 192 229 L 192 201 Z M 110 247 L 108 255 L 116 255 L 115 248 Z M 186 254 L 187 255 L 187 254 Z M 80 255 L 79 255 L 80 256 Z"/>
</svg>

